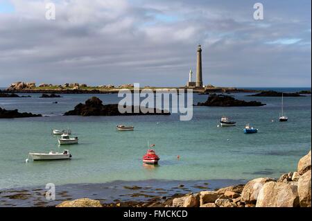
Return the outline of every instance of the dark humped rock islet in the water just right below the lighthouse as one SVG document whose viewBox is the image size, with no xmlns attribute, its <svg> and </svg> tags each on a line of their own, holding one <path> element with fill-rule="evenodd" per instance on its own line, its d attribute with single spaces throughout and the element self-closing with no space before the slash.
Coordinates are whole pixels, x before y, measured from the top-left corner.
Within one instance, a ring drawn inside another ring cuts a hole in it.
<svg viewBox="0 0 312 221">
<path fill-rule="evenodd" d="M 245 101 L 236 100 L 231 96 L 225 96 L 223 94 L 210 94 L 208 100 L 205 103 L 198 103 L 198 106 L 211 106 L 211 107 L 254 107 L 263 106 L 265 104 L 258 101 Z"/>
</svg>

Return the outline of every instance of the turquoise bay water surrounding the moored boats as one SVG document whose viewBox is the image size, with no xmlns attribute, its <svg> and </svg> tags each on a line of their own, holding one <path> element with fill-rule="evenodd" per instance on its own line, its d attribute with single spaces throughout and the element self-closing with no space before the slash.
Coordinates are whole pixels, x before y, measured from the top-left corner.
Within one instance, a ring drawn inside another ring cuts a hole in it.
<svg viewBox="0 0 312 221">
<path fill-rule="evenodd" d="M 311 96 L 284 98 L 289 121 L 277 121 L 281 98 L 253 98 L 264 107 L 193 107 L 192 121 L 171 116 L 62 116 L 92 95 L 65 94 L 63 98 L 0 98 L 0 107 L 47 115 L 42 118 L 0 119 L 0 189 L 45 186 L 46 183 L 105 183 L 147 179 L 209 180 L 279 177 L 295 171 L 297 161 L 311 148 Z M 96 95 L 117 103 L 116 94 Z M 194 103 L 207 96 L 194 94 Z M 52 104 L 58 101 L 58 104 Z M 236 127 L 217 127 L 221 116 Z M 272 119 L 275 121 L 272 122 Z M 117 132 L 119 123 L 135 125 L 134 132 Z M 243 134 L 245 123 L 259 129 Z M 71 128 L 78 145 L 62 146 L 51 128 Z M 159 166 L 142 165 L 147 143 L 155 143 Z M 28 152 L 69 149 L 70 161 L 25 163 Z M 177 159 L 180 155 L 180 160 Z"/>
</svg>

